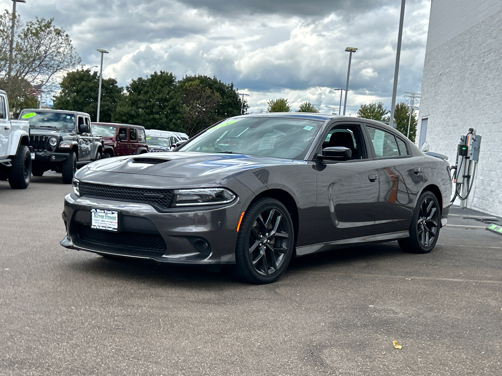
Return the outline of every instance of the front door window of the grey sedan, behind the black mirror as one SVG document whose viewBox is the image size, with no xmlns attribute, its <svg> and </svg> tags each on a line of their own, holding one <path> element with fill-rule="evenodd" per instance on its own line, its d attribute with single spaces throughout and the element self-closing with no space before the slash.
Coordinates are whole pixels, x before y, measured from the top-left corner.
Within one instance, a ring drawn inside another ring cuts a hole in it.
<svg viewBox="0 0 502 376">
<path fill-rule="evenodd" d="M 333 127 L 324 139 L 322 148 L 332 146 L 348 147 L 352 151 L 350 160 L 367 158 L 364 139 L 358 125 L 338 125 Z"/>
</svg>

